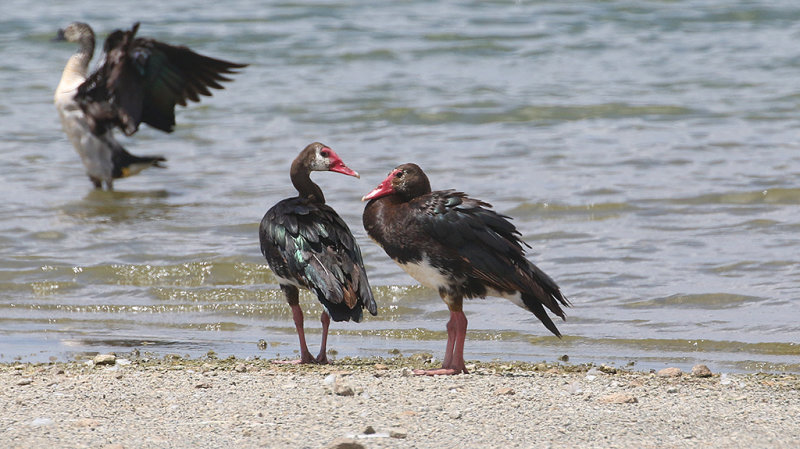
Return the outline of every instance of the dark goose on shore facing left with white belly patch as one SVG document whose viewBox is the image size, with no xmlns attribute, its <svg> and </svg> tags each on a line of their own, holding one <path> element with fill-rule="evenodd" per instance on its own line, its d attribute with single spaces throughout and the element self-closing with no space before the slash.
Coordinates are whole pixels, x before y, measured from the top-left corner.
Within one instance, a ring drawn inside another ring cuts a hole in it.
<svg viewBox="0 0 800 449">
<path fill-rule="evenodd" d="M 395 168 L 363 200 L 369 200 L 363 215 L 369 236 L 414 279 L 438 291 L 450 309 L 442 368 L 417 374 L 467 372 L 465 297 L 508 298 L 561 336 L 545 307 L 564 319 L 561 305 L 569 302 L 558 285 L 525 258 L 527 244 L 509 217 L 461 192 L 432 192 L 416 164 Z"/>
</svg>

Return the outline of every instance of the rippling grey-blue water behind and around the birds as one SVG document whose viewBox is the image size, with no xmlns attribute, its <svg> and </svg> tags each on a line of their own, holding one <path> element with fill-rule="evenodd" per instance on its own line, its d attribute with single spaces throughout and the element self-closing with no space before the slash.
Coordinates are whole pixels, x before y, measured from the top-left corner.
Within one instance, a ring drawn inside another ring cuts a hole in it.
<svg viewBox="0 0 800 449">
<path fill-rule="evenodd" d="M 446 307 L 360 224 L 359 198 L 413 161 L 513 216 L 574 303 L 563 340 L 467 303 L 467 359 L 800 371 L 796 2 L 136 3 L 4 4 L 0 361 L 292 356 L 257 227 L 320 140 L 362 175 L 315 180 L 380 307 L 332 326 L 339 356 L 444 351 Z M 94 191 L 52 104 L 74 48 L 49 39 L 72 20 L 251 66 L 174 134 L 125 139 L 168 169 Z M 321 308 L 302 301 L 313 352 Z"/>
</svg>

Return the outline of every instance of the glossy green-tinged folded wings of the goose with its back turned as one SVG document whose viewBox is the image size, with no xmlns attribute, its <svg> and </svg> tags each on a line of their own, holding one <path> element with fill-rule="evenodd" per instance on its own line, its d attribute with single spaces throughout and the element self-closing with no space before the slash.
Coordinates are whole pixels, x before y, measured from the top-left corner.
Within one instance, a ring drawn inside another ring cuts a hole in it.
<svg viewBox="0 0 800 449">
<path fill-rule="evenodd" d="M 283 200 L 264 215 L 259 239 L 275 274 L 314 291 L 334 321 L 361 321 L 364 307 L 377 314 L 361 250 L 329 206 Z"/>
</svg>

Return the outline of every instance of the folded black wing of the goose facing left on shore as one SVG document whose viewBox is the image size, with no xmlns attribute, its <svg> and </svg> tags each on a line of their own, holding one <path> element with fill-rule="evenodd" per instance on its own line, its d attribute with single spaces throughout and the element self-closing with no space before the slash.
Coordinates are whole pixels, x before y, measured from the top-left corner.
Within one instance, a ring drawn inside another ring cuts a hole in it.
<svg viewBox="0 0 800 449">
<path fill-rule="evenodd" d="M 424 212 L 417 214 L 423 228 L 458 257 L 470 278 L 495 290 L 519 291 L 532 311 L 526 298 L 535 298 L 539 308 L 544 304 L 564 317 L 559 303 L 567 306 L 569 302 L 558 285 L 525 258 L 523 246 L 528 245 L 520 240 L 520 233 L 509 221 L 510 217 L 491 210 L 491 204 L 453 190 L 435 191 L 417 201 L 415 207 Z M 539 313 L 536 315 L 542 319 Z M 547 324 L 549 318 L 542 321 Z"/>
</svg>

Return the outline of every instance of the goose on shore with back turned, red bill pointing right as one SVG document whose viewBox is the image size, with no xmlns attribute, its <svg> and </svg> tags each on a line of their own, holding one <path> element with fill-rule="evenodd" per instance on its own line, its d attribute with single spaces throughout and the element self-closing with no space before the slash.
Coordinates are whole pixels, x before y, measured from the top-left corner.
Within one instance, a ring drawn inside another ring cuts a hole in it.
<svg viewBox="0 0 800 449">
<path fill-rule="evenodd" d="M 261 252 L 286 294 L 300 338 L 300 360 L 290 363 L 328 362 L 325 346 L 331 319 L 360 322 L 363 308 L 377 314 L 361 250 L 339 214 L 325 204 L 322 190 L 309 176 L 312 171 L 358 177 L 327 146 L 319 142 L 308 145 L 290 171 L 299 195 L 272 206 L 258 230 Z M 324 307 L 322 344 L 316 358 L 306 346 L 300 288 L 314 292 Z"/>
</svg>

